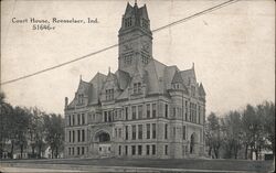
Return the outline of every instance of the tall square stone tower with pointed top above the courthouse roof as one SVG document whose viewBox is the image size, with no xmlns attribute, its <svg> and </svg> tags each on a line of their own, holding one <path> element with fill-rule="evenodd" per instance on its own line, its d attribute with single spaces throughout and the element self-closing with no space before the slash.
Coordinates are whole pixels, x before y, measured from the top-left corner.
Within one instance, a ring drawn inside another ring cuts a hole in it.
<svg viewBox="0 0 276 173">
<path fill-rule="evenodd" d="M 152 33 L 146 4 L 127 3 L 119 30 L 119 69 L 130 75 L 152 60 Z"/>
</svg>

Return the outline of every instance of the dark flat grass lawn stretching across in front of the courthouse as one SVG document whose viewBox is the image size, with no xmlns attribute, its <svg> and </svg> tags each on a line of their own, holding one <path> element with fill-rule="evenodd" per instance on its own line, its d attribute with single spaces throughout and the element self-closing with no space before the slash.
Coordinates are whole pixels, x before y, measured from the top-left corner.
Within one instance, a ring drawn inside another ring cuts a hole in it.
<svg viewBox="0 0 276 173">
<path fill-rule="evenodd" d="M 55 159 L 55 160 L 2 160 L 2 163 L 70 164 L 97 166 L 135 166 L 162 169 L 191 169 L 217 171 L 269 172 L 273 161 L 203 160 L 203 159 Z"/>
</svg>

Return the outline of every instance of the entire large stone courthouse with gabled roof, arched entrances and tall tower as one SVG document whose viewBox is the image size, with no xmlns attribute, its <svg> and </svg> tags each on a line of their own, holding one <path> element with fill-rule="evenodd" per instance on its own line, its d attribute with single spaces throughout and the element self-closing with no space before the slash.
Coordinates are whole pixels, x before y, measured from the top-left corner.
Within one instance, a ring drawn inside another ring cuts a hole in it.
<svg viewBox="0 0 276 173">
<path fill-rule="evenodd" d="M 65 98 L 65 158 L 202 155 L 205 91 L 194 65 L 181 71 L 152 57 L 146 6 L 127 4 L 118 39 L 118 69 L 81 78 Z"/>
</svg>

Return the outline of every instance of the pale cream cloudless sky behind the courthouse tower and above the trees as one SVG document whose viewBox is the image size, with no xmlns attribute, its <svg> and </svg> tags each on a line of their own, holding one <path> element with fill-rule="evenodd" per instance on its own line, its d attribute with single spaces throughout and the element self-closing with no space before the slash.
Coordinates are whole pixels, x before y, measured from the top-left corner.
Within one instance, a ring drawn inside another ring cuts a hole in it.
<svg viewBox="0 0 276 173">
<path fill-rule="evenodd" d="M 118 42 L 125 0 L 1 1 L 1 80 L 18 78 Z M 146 3 L 150 28 L 157 29 L 216 6 L 221 0 L 138 0 Z M 129 1 L 134 4 L 134 0 Z M 275 2 L 242 0 L 220 10 L 153 33 L 153 58 L 188 69 L 206 91 L 206 113 L 223 115 L 246 104 L 275 100 Z M 53 24 L 12 19 L 97 19 L 98 23 Z M 117 69 L 118 47 L 73 64 L 2 85 L 7 101 L 63 113 L 64 98 L 73 99 L 79 75 L 86 82 L 97 72 Z"/>
</svg>

